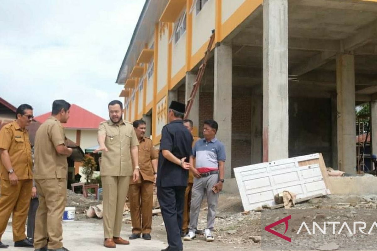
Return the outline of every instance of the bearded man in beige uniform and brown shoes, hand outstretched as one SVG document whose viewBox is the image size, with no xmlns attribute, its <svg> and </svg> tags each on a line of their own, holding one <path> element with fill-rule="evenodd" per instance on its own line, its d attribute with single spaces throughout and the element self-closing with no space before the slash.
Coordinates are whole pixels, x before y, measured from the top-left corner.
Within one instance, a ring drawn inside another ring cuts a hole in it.
<svg viewBox="0 0 377 251">
<path fill-rule="evenodd" d="M 100 147 L 94 153 L 102 151 L 100 173 L 103 188 L 103 245 L 115 248 L 115 244 L 129 244 L 120 237 L 120 231 L 130 176 L 133 176 L 134 182 L 139 178 L 139 141 L 132 123 L 122 120 L 122 102 L 113 100 L 108 108 L 110 120 L 100 123 L 98 127 Z"/>
</svg>

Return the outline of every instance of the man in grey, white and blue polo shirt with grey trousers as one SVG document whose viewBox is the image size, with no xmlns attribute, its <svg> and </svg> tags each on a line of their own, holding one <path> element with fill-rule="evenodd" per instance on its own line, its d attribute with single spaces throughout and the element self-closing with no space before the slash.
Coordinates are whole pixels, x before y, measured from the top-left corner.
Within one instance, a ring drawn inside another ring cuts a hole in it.
<svg viewBox="0 0 377 251">
<path fill-rule="evenodd" d="M 192 187 L 189 233 L 184 240 L 196 238 L 195 231 L 204 196 L 207 197 L 208 204 L 205 240 L 208 242 L 214 240 L 211 231 L 215 225 L 217 201 L 219 192 L 222 190 L 222 183 L 224 183 L 225 168 L 225 146 L 216 138 L 218 127 L 215 120 L 206 120 L 203 128 L 204 138 L 198 140 L 192 149 L 190 163 L 195 178 Z"/>
</svg>

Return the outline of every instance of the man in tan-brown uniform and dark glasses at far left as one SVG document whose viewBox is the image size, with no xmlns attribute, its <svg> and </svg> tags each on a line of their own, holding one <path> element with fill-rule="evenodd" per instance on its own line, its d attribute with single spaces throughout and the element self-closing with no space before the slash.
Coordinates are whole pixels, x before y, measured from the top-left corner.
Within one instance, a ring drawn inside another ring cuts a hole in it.
<svg viewBox="0 0 377 251">
<path fill-rule="evenodd" d="M 1 237 L 12 212 L 14 246 L 33 247 L 25 235 L 33 186 L 31 144 L 26 126 L 33 120 L 33 108 L 28 104 L 18 106 L 16 119 L 0 130 L 0 248 L 9 247 L 1 242 Z"/>
</svg>

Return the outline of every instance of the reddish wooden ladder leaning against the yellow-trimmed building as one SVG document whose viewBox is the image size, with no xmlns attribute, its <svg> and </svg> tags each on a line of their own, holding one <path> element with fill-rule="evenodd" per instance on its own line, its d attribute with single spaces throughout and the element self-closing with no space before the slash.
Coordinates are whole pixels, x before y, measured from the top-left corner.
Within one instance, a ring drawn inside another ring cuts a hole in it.
<svg viewBox="0 0 377 251">
<path fill-rule="evenodd" d="M 190 97 L 187 100 L 184 119 L 187 119 L 189 117 L 189 114 L 190 114 L 190 111 L 191 111 L 191 108 L 192 108 L 192 104 L 194 103 L 194 99 L 195 99 L 196 93 L 198 92 L 199 86 L 200 86 L 200 84 L 202 82 L 202 78 L 203 78 L 203 75 L 204 75 L 205 67 L 207 67 L 208 57 L 210 55 L 210 51 L 212 49 L 212 45 L 213 45 L 214 41 L 215 41 L 215 30 L 212 30 L 212 35 L 210 37 L 210 42 L 208 43 L 207 50 L 205 51 L 205 55 L 204 55 L 202 64 L 199 66 L 198 75 L 196 75 L 196 79 L 195 79 L 195 82 L 193 84 L 193 88 L 192 88 Z"/>
</svg>

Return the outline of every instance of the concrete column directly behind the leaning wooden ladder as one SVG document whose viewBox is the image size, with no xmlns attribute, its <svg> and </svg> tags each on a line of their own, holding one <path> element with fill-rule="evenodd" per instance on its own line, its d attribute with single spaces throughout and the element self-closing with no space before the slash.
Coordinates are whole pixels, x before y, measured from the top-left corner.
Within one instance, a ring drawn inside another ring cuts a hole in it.
<svg viewBox="0 0 377 251">
<path fill-rule="evenodd" d="M 190 94 L 193 89 L 193 84 L 196 79 L 196 74 L 187 71 L 186 73 L 186 82 L 185 82 L 185 87 L 186 87 L 186 93 L 185 93 L 185 103 L 189 102 Z M 200 91 L 196 93 L 194 103 L 192 104 L 191 111 L 189 114 L 189 119 L 194 122 L 194 134 L 198 135 L 198 128 L 199 128 L 199 97 L 200 97 Z"/>
</svg>

